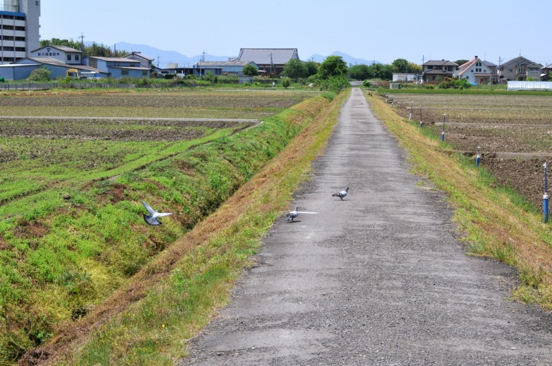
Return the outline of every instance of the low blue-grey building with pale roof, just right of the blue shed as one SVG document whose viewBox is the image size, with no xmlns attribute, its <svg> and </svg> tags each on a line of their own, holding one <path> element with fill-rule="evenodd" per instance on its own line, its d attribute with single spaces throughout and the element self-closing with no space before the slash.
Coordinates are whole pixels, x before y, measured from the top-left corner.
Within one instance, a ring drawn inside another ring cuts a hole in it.
<svg viewBox="0 0 552 366">
<path fill-rule="evenodd" d="M 124 57 L 85 57 L 83 64 L 107 72 L 109 77 L 150 77 L 151 68 L 144 68 L 140 61 Z"/>
</svg>

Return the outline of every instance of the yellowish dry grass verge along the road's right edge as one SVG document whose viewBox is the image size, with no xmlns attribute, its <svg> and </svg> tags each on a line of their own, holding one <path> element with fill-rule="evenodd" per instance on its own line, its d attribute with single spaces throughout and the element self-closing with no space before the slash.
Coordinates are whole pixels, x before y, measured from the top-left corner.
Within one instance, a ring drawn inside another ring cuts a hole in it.
<svg viewBox="0 0 552 366">
<path fill-rule="evenodd" d="M 375 96 L 368 100 L 408 150 L 413 170 L 449 194 L 471 254 L 517 267 L 521 283 L 513 296 L 552 309 L 552 234 L 542 214 L 519 194 L 495 187 L 492 176 L 475 168 L 473 160 L 454 154 L 439 135 L 420 132 Z"/>
</svg>

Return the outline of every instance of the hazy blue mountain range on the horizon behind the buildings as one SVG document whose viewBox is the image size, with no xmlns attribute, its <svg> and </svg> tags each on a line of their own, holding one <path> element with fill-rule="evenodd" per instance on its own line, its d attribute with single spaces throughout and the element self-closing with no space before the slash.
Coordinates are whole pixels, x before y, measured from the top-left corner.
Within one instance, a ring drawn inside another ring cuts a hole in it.
<svg viewBox="0 0 552 366">
<path fill-rule="evenodd" d="M 86 45 L 92 44 L 91 41 L 85 42 Z M 233 54 L 230 56 L 214 56 L 213 54 L 198 54 L 192 57 L 187 57 L 184 54 L 181 54 L 176 51 L 166 51 L 166 50 L 159 50 L 159 48 L 152 47 L 150 45 L 141 45 L 141 44 L 132 44 L 132 43 L 126 43 L 126 42 L 117 42 L 115 43 L 115 48 L 117 50 L 126 50 L 128 52 L 141 52 L 142 54 L 151 57 L 152 59 L 155 59 L 154 64 L 158 65 L 160 68 L 166 68 L 168 63 L 177 63 L 179 67 L 191 67 L 197 61 L 199 61 L 202 57 L 204 57 L 205 61 L 228 61 L 229 57 L 237 57 L 237 54 Z M 239 52 L 239 50 L 237 50 Z M 301 50 L 299 50 L 299 57 L 301 55 Z M 335 51 L 331 54 L 328 54 L 328 56 L 341 56 L 343 58 L 343 61 L 347 63 L 347 65 L 359 65 L 364 63 L 365 65 L 371 65 L 372 63 L 379 63 L 380 61 L 376 60 L 365 60 L 365 59 L 357 59 L 355 57 L 352 57 L 348 54 L 344 54 L 343 52 Z M 322 62 L 324 59 L 326 59 L 327 56 L 322 56 L 321 54 L 313 54 L 311 57 L 308 57 L 307 59 L 304 59 L 300 57 L 303 61 L 316 61 L 316 62 Z"/>
</svg>

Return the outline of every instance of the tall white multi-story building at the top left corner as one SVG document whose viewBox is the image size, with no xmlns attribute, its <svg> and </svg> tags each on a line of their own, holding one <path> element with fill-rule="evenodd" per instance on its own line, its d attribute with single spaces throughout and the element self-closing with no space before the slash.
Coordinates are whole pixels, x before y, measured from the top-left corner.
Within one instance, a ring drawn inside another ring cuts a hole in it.
<svg viewBox="0 0 552 366">
<path fill-rule="evenodd" d="M 0 65 L 29 56 L 40 47 L 40 0 L 0 3 Z"/>
</svg>

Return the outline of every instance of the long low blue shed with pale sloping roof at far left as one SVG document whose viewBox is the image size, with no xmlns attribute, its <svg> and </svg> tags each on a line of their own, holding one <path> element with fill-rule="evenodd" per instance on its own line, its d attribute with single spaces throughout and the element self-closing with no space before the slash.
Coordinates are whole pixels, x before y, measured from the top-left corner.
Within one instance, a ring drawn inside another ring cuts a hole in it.
<svg viewBox="0 0 552 366">
<path fill-rule="evenodd" d="M 86 65 L 70 65 L 63 63 L 51 57 L 26 57 L 10 63 L 9 65 L 0 65 L 0 76 L 6 80 L 24 80 L 27 79 L 32 70 L 37 68 L 46 68 L 50 71 L 52 79 L 66 77 L 67 70 L 77 69 L 80 72 L 99 72 L 100 77 L 107 77 L 107 72 L 102 72 L 96 68 Z"/>
</svg>

